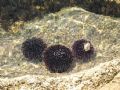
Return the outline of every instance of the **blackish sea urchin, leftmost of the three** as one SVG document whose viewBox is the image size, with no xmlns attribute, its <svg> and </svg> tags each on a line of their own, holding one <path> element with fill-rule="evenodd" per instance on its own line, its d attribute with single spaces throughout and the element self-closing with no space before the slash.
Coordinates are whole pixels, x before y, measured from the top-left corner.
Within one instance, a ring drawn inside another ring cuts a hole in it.
<svg viewBox="0 0 120 90">
<path fill-rule="evenodd" d="M 23 55 L 28 59 L 40 59 L 46 44 L 40 38 L 27 39 L 22 44 Z"/>
</svg>

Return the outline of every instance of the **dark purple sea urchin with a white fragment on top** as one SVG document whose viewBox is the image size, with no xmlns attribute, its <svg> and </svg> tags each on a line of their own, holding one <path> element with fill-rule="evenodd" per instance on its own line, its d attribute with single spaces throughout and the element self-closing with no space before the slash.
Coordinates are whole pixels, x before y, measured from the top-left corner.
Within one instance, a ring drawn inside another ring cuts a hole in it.
<svg viewBox="0 0 120 90">
<path fill-rule="evenodd" d="M 84 61 L 88 61 L 94 55 L 94 48 L 90 41 L 85 39 L 77 40 L 72 46 L 73 55 Z"/>
</svg>

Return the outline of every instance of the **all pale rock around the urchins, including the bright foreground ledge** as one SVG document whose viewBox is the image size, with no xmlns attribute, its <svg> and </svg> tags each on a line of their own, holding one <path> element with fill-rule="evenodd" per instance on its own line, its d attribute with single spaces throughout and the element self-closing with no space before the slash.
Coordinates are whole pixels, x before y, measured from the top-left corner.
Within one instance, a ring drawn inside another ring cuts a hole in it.
<svg viewBox="0 0 120 90">
<path fill-rule="evenodd" d="M 73 7 L 43 19 L 16 22 L 12 30 L 15 33 L 0 31 L 1 90 L 93 90 L 109 83 L 119 73 L 119 18 Z M 88 63 L 78 60 L 70 72 L 53 74 L 44 62 L 28 61 L 22 55 L 21 44 L 31 37 L 42 38 L 48 46 L 62 44 L 69 48 L 75 40 L 85 38 L 93 44 L 96 56 Z"/>
</svg>

